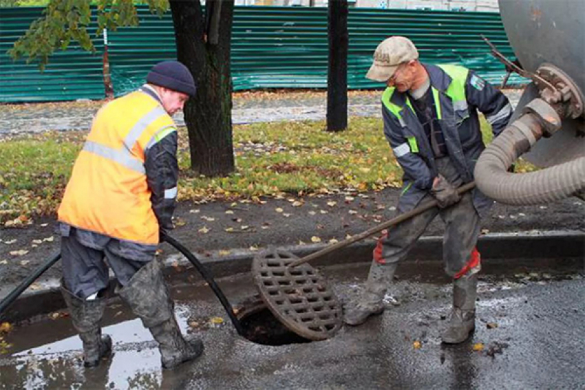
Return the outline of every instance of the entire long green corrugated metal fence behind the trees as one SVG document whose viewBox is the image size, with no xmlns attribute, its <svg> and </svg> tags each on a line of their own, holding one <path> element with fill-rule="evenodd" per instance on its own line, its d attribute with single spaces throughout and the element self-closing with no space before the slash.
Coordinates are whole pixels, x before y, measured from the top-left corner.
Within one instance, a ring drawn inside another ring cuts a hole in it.
<svg viewBox="0 0 585 390">
<path fill-rule="evenodd" d="M 103 98 L 101 38 L 95 42 L 98 54 L 86 54 L 78 48 L 56 54 L 45 74 L 39 74 L 32 65 L 7 63 L 6 50 L 11 40 L 14 42 L 23 34 L 34 12 L 38 16 L 40 10 L 11 9 L 12 17 L 8 19 L 6 12 L 0 14 L 0 101 Z M 167 13 L 160 18 L 141 6 L 138 17 L 138 27 L 121 28 L 108 34 L 116 96 L 140 85 L 153 64 L 176 58 L 171 15 Z M 5 19 L 12 20 L 10 29 L 5 28 Z M 376 45 L 390 35 L 412 39 L 422 61 L 460 63 L 496 84 L 503 78 L 504 67 L 489 54 L 480 35 L 487 36 L 503 54 L 513 57 L 500 16 L 491 12 L 352 8 L 348 28 L 348 87 L 351 89 L 381 87 L 364 75 L 372 63 Z M 235 8 L 231 53 L 234 90 L 325 88 L 327 55 L 326 8 Z M 511 78 L 511 83 L 520 80 Z M 5 85 L 10 86 L 9 93 L 4 91 Z"/>
</svg>

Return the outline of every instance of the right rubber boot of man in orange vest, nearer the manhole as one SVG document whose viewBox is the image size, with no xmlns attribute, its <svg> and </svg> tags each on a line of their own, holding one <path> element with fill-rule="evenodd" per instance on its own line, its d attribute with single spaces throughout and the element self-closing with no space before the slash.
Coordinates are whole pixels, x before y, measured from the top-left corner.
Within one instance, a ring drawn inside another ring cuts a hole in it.
<svg viewBox="0 0 585 390">
<path fill-rule="evenodd" d="M 202 354 L 201 340 L 187 342 L 181 334 L 158 261 L 140 268 L 118 294 L 158 342 L 163 368 L 171 369 Z"/>
</svg>

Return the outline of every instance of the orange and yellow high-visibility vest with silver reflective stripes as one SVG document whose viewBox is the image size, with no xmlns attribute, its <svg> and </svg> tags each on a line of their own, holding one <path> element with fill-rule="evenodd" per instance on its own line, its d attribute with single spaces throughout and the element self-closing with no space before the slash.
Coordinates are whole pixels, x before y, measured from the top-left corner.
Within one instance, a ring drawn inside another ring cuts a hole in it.
<svg viewBox="0 0 585 390">
<path fill-rule="evenodd" d="M 145 151 L 171 131 L 158 101 L 135 91 L 102 107 L 74 164 L 58 220 L 120 240 L 158 243 Z"/>
</svg>

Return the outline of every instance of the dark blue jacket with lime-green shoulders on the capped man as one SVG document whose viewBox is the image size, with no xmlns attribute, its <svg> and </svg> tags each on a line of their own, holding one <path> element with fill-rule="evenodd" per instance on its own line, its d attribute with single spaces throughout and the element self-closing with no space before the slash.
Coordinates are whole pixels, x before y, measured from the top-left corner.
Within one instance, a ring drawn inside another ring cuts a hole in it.
<svg viewBox="0 0 585 390">
<path fill-rule="evenodd" d="M 512 107 L 502 92 L 465 67 L 423 66 L 429 74 L 449 158 L 462 181 L 471 182 L 476 161 L 485 149 L 477 111 L 485 114 L 493 135 L 497 136 L 506 127 Z M 437 175 L 434 154 L 406 93 L 388 87 L 382 96 L 382 106 L 385 136 L 404 171 L 398 210 L 406 212 L 416 207 L 432 187 Z M 474 206 L 480 215 L 491 204 L 490 199 L 474 190 Z"/>
</svg>

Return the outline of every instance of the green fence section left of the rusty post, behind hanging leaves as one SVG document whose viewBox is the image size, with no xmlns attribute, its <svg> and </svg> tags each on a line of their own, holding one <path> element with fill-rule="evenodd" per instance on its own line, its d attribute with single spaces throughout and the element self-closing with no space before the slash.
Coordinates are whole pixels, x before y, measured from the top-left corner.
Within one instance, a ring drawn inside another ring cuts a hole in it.
<svg viewBox="0 0 585 390">
<path fill-rule="evenodd" d="M 43 8 L 0 8 L 0 101 L 33 102 L 103 99 L 103 61 L 101 38 L 94 39 L 96 54 L 78 45 L 55 52 L 44 72 L 25 59 L 12 61 L 6 54 L 24 34 Z M 90 30 L 95 36 L 95 27 Z"/>
</svg>

